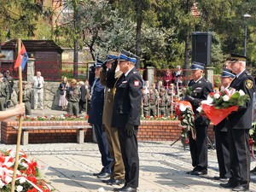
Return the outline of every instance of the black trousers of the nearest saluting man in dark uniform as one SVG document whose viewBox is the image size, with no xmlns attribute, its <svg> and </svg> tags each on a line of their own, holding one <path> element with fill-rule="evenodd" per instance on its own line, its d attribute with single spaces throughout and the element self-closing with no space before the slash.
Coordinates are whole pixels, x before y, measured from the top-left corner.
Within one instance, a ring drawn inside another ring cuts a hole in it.
<svg viewBox="0 0 256 192">
<path fill-rule="evenodd" d="M 138 187 L 139 178 L 139 158 L 137 153 L 137 129 L 135 134 L 129 137 L 125 127 L 119 128 L 119 143 L 125 165 L 125 186 L 131 188 Z"/>
</svg>

